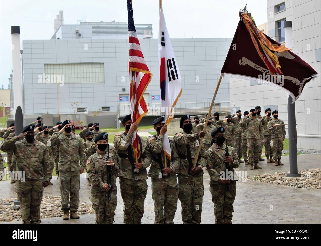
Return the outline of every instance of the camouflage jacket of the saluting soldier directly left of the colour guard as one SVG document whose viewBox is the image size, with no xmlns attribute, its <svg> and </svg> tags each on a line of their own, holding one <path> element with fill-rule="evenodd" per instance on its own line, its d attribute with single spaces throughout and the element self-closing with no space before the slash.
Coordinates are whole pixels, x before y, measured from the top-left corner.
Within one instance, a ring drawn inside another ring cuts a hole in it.
<svg viewBox="0 0 321 246">
<path fill-rule="evenodd" d="M 85 169 L 85 153 L 79 135 L 72 133 L 68 138 L 64 133 L 56 132 L 52 135 L 51 146 L 56 145 L 59 152 L 58 171 L 80 171 Z"/>
</svg>

